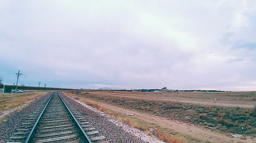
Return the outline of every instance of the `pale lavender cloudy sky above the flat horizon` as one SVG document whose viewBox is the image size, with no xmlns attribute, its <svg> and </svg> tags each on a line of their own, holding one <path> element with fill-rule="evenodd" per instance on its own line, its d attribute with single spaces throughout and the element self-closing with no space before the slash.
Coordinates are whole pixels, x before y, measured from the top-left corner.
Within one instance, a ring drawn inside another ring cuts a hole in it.
<svg viewBox="0 0 256 143">
<path fill-rule="evenodd" d="M 255 69 L 254 0 L 0 0 L 6 84 L 256 91 Z"/>
</svg>

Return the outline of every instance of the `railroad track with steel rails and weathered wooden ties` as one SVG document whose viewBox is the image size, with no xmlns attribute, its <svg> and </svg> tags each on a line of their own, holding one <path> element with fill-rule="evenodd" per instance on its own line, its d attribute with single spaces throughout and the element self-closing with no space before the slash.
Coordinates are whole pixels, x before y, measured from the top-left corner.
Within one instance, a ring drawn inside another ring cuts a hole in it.
<svg viewBox="0 0 256 143">
<path fill-rule="evenodd" d="M 54 92 L 17 129 L 13 142 L 93 142 L 104 139 L 78 111 Z"/>
</svg>

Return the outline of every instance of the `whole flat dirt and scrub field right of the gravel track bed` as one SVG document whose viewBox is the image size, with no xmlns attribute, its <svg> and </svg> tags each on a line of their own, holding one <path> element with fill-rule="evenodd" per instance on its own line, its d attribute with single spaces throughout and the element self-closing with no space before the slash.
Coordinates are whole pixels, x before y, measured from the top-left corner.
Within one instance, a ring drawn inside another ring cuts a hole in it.
<svg viewBox="0 0 256 143">
<path fill-rule="evenodd" d="M 123 115 L 135 114 L 129 118 L 184 142 L 256 142 L 256 92 L 76 91 L 66 95 Z"/>
</svg>

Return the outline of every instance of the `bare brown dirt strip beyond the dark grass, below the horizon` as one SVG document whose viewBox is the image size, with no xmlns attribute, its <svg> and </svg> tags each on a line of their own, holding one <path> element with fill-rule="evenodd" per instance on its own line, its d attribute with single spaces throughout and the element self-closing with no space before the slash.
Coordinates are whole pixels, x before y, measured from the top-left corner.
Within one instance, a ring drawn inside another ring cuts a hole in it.
<svg viewBox="0 0 256 143">
<path fill-rule="evenodd" d="M 223 107 L 253 108 L 256 105 L 256 92 L 90 92 L 90 94 Z"/>
</svg>

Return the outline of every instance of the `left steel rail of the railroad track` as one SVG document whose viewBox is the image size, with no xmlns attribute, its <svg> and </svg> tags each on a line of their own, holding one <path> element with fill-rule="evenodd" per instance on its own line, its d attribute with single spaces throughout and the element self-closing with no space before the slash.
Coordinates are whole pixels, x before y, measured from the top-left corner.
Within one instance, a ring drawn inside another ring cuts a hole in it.
<svg viewBox="0 0 256 143">
<path fill-rule="evenodd" d="M 55 92 L 54 92 L 54 93 L 55 93 Z M 36 122 L 35 122 L 33 128 L 31 129 L 31 131 L 30 131 L 30 133 L 29 133 L 29 135 L 28 135 L 28 137 L 27 137 L 25 143 L 32 142 L 32 139 L 33 139 L 32 137 L 33 137 L 33 135 L 34 135 L 34 133 L 35 133 L 35 131 L 36 131 L 38 125 L 39 125 L 39 121 L 41 120 L 42 115 L 44 115 L 44 113 L 45 113 L 45 111 L 46 111 L 46 108 L 47 108 L 47 106 L 48 106 L 50 100 L 52 99 L 52 96 L 54 95 L 54 93 L 52 93 L 50 99 L 48 100 L 48 102 L 47 102 L 47 104 L 46 104 L 46 106 L 45 106 L 45 108 L 42 110 L 42 112 L 40 113 L 40 116 L 37 118 L 37 120 L 36 120 Z"/>
</svg>

